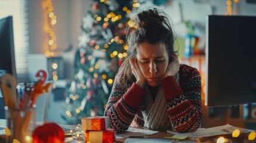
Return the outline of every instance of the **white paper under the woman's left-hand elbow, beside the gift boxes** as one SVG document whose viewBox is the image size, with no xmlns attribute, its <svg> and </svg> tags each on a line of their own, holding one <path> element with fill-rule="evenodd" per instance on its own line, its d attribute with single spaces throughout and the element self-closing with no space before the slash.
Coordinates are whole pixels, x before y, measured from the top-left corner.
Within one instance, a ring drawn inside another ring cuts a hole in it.
<svg viewBox="0 0 256 143">
<path fill-rule="evenodd" d="M 158 131 L 154 130 L 145 130 L 145 129 L 136 129 L 128 128 L 124 133 L 116 133 L 116 138 L 128 138 L 129 136 L 146 136 L 157 133 Z"/>
</svg>

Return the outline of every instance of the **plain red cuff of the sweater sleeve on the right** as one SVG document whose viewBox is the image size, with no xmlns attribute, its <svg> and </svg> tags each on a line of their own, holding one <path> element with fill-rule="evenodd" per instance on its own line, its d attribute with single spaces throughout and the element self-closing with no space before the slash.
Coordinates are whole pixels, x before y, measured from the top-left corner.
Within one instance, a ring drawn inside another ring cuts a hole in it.
<svg viewBox="0 0 256 143">
<path fill-rule="evenodd" d="M 162 80 L 162 86 L 165 92 L 165 100 L 169 101 L 177 95 L 183 94 L 182 89 L 178 86 L 174 76 L 167 76 Z"/>
</svg>

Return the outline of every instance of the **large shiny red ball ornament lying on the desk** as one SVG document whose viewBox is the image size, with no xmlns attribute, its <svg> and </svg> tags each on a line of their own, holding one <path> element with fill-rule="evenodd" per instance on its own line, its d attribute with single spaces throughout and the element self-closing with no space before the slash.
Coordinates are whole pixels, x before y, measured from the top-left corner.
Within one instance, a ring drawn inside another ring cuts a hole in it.
<svg viewBox="0 0 256 143">
<path fill-rule="evenodd" d="M 34 130 L 32 137 L 33 143 L 62 143 L 65 139 L 65 133 L 56 123 L 45 123 Z"/>
</svg>

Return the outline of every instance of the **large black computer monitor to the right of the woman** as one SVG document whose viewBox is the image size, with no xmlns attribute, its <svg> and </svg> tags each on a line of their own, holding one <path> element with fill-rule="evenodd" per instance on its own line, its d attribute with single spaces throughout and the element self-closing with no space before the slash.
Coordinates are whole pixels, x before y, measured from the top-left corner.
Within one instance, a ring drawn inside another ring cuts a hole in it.
<svg viewBox="0 0 256 143">
<path fill-rule="evenodd" d="M 205 105 L 256 102 L 256 17 L 206 18 Z"/>
</svg>

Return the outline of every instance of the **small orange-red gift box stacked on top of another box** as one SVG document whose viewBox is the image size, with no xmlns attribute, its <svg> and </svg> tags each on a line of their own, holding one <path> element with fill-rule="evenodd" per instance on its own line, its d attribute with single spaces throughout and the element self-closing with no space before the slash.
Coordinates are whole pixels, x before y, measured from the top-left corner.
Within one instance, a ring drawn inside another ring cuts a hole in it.
<svg viewBox="0 0 256 143">
<path fill-rule="evenodd" d="M 81 119 L 82 130 L 104 130 L 109 128 L 109 117 L 95 116 Z"/>
</svg>

